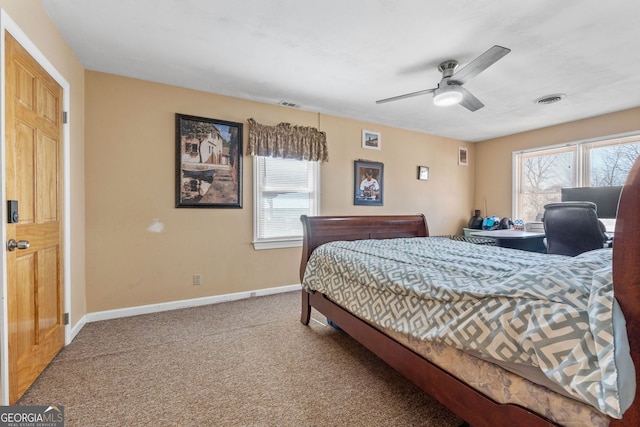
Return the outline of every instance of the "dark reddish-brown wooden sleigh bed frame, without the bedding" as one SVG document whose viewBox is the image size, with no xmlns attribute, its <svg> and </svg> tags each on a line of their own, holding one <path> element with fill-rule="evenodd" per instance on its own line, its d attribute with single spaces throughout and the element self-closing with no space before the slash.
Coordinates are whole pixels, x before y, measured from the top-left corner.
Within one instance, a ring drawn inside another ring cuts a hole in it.
<svg viewBox="0 0 640 427">
<path fill-rule="evenodd" d="M 300 279 L 313 250 L 334 240 L 425 237 L 423 215 L 333 216 L 301 218 L 304 243 Z M 622 191 L 613 253 L 614 292 L 625 315 L 638 392 L 621 420 L 611 426 L 640 426 L 640 159 Z M 541 414 L 514 404 L 500 404 L 402 346 L 318 292 L 302 290 L 301 322 L 308 324 L 311 307 L 330 318 L 355 340 L 414 382 L 474 427 L 556 425 Z"/>
</svg>

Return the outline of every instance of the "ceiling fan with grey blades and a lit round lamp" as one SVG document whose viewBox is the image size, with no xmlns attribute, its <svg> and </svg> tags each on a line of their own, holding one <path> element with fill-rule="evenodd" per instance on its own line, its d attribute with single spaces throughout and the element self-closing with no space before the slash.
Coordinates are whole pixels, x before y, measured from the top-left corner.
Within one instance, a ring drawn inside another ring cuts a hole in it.
<svg viewBox="0 0 640 427">
<path fill-rule="evenodd" d="M 437 87 L 380 99 L 376 101 L 376 104 L 433 93 L 433 103 L 437 106 L 444 107 L 447 105 L 460 104 L 469 111 L 479 110 L 484 107 L 484 104 L 473 96 L 471 92 L 462 87 L 462 85 L 465 84 L 467 80 L 489 68 L 509 52 L 511 52 L 511 49 L 495 45 L 458 71 L 455 71 L 458 67 L 458 61 L 453 59 L 444 61 L 438 66 L 438 70 L 442 73 L 442 80 L 440 80 Z"/>
</svg>

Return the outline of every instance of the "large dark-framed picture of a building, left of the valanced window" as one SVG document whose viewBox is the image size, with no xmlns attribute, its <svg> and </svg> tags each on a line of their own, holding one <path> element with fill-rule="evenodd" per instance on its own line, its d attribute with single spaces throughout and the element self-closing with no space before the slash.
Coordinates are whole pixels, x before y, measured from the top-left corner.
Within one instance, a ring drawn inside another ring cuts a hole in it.
<svg viewBox="0 0 640 427">
<path fill-rule="evenodd" d="M 242 208 L 242 123 L 176 113 L 176 207 Z"/>
</svg>

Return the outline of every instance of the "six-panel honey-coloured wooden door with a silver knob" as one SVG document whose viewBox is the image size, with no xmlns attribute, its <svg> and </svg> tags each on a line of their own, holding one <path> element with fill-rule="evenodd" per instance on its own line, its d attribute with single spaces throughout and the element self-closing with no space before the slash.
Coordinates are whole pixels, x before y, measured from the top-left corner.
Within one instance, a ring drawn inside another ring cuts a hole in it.
<svg viewBox="0 0 640 427">
<path fill-rule="evenodd" d="M 8 242 L 29 242 L 7 248 L 14 404 L 64 345 L 62 88 L 9 33 L 5 45 L 6 191 L 19 212 L 5 226 Z"/>
</svg>

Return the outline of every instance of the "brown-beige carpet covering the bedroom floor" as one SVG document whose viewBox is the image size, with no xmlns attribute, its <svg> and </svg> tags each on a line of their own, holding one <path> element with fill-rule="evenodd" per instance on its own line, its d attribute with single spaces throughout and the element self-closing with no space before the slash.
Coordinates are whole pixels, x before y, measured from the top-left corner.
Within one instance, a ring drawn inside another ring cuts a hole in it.
<svg viewBox="0 0 640 427">
<path fill-rule="evenodd" d="M 22 397 L 66 426 L 457 426 L 298 292 L 87 324 Z"/>
</svg>

